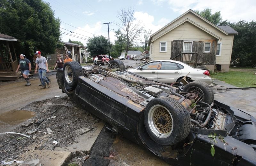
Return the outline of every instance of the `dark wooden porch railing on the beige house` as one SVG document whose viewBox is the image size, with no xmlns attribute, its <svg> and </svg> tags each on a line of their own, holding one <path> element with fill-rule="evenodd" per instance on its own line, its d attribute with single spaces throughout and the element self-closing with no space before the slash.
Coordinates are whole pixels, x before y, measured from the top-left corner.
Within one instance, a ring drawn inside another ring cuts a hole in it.
<svg viewBox="0 0 256 166">
<path fill-rule="evenodd" d="M 177 60 L 180 62 L 184 62 L 190 66 L 194 66 L 195 68 L 197 68 L 198 53 L 197 52 L 181 52 L 180 54 L 171 58 L 171 60 Z"/>
</svg>

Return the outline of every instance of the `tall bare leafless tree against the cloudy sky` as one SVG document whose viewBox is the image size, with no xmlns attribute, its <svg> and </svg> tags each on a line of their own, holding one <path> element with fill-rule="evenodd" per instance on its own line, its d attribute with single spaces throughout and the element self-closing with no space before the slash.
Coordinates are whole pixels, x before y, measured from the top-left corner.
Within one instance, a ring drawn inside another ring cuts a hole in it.
<svg viewBox="0 0 256 166">
<path fill-rule="evenodd" d="M 140 22 L 135 22 L 134 18 L 134 9 L 127 8 L 121 9 L 121 12 L 118 13 L 117 18 L 121 21 L 121 24 L 117 24 L 118 27 L 124 30 L 126 37 L 126 52 L 128 52 L 129 45 L 137 39 L 143 30 L 143 27 L 140 26 Z"/>
</svg>

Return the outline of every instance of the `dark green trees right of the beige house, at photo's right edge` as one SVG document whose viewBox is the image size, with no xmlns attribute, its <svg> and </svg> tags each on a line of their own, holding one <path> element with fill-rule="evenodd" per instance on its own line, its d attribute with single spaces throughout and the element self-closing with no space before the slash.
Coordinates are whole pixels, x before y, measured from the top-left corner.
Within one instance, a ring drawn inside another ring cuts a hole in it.
<svg viewBox="0 0 256 166">
<path fill-rule="evenodd" d="M 232 60 L 239 58 L 241 66 L 256 65 L 256 21 L 238 21 L 230 26 L 238 32 L 234 37 Z"/>
</svg>

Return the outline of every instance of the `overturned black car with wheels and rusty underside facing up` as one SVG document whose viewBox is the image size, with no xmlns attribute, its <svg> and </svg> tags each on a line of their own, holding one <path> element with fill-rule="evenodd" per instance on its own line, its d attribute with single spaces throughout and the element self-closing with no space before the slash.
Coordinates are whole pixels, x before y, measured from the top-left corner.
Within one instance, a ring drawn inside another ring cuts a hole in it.
<svg viewBox="0 0 256 166">
<path fill-rule="evenodd" d="M 78 105 L 109 123 L 112 130 L 173 165 L 256 165 L 256 119 L 213 100 L 209 85 L 179 88 L 125 71 L 82 68 L 57 70 L 57 82 Z"/>
</svg>

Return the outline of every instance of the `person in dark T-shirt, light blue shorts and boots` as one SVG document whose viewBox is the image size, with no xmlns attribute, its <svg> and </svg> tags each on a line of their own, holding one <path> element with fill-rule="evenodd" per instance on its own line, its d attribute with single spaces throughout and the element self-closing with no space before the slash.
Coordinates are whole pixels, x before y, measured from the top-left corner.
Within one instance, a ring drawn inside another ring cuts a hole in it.
<svg viewBox="0 0 256 166">
<path fill-rule="evenodd" d="M 28 60 L 26 58 L 26 56 L 23 54 L 20 54 L 20 61 L 19 61 L 19 65 L 18 65 L 16 72 L 19 71 L 19 68 L 20 68 L 21 72 L 23 73 L 24 79 L 27 82 L 27 84 L 25 84 L 25 86 L 30 86 L 31 84 L 30 84 L 30 81 L 28 78 L 28 73 L 29 73 L 29 71 L 31 71 L 31 63 L 30 63 L 30 60 Z"/>
</svg>

